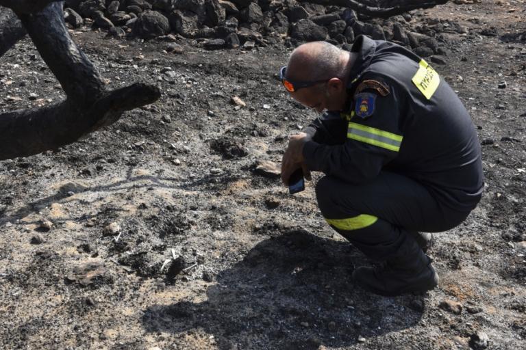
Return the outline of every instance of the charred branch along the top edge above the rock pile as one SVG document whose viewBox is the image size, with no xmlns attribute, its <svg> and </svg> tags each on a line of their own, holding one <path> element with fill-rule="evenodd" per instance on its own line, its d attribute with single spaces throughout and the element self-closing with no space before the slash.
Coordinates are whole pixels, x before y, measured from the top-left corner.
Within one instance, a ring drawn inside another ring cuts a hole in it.
<svg viewBox="0 0 526 350">
<path fill-rule="evenodd" d="M 389 18 L 411 10 L 434 8 L 449 0 L 299 0 L 302 3 L 318 5 L 336 5 L 350 8 L 361 14 L 377 18 Z"/>
</svg>

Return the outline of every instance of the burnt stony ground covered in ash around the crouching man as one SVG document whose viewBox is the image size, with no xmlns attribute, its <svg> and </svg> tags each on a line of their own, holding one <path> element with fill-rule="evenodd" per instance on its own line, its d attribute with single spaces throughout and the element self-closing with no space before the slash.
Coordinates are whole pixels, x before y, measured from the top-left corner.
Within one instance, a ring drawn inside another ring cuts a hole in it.
<svg viewBox="0 0 526 350">
<path fill-rule="evenodd" d="M 312 183 L 289 196 L 254 171 L 314 118 L 277 81 L 290 49 L 182 42 L 175 55 L 75 31 L 110 85 L 158 81 L 163 94 L 76 144 L 0 162 L 0 348 L 524 349 L 525 6 L 414 16 L 468 29 L 434 67 L 477 125 L 486 191 L 436 234 L 438 288 L 394 298 L 353 286 L 370 262 L 325 224 Z M 0 59 L 0 81 L 3 110 L 63 96 L 29 40 Z"/>
</svg>

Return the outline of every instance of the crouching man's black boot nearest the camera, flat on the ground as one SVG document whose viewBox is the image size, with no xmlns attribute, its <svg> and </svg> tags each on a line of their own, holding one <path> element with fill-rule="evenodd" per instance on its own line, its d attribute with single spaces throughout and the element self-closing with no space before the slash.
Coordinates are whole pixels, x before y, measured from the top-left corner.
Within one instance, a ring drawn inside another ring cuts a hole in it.
<svg viewBox="0 0 526 350">
<path fill-rule="evenodd" d="M 437 286 L 438 275 L 416 240 L 405 234 L 399 250 L 379 267 L 355 269 L 353 282 L 372 293 L 393 297 L 429 291 Z"/>
</svg>

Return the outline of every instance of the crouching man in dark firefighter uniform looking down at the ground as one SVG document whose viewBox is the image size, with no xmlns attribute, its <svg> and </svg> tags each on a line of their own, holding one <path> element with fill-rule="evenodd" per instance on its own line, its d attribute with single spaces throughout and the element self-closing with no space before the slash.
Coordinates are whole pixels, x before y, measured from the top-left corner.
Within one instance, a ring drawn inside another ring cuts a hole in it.
<svg viewBox="0 0 526 350">
<path fill-rule="evenodd" d="M 379 295 L 438 284 L 425 251 L 458 226 L 484 186 L 477 133 L 451 87 L 402 46 L 360 36 L 351 52 L 299 46 L 281 68 L 292 98 L 323 112 L 290 137 L 281 178 L 323 172 L 316 185 L 327 223 L 366 256 L 353 282 Z"/>
</svg>

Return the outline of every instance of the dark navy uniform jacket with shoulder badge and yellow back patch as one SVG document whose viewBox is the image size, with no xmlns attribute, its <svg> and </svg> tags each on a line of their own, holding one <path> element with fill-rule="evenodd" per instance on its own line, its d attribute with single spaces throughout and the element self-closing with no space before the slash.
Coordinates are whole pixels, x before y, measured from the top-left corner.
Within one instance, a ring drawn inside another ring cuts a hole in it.
<svg viewBox="0 0 526 350">
<path fill-rule="evenodd" d="M 383 170 L 425 185 L 437 200 L 469 211 L 484 176 L 473 122 L 438 73 L 397 44 L 360 36 L 352 48 L 345 111 L 328 111 L 308 126 L 305 163 L 360 184 Z"/>
</svg>

